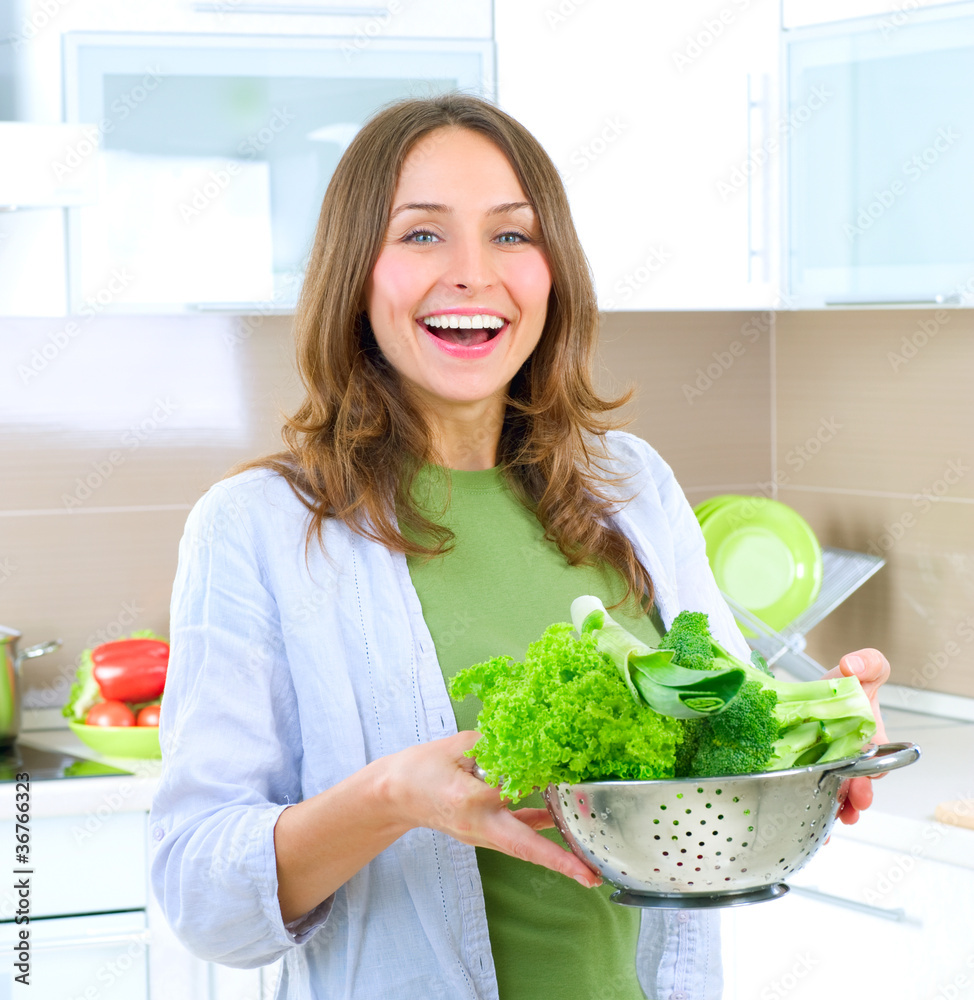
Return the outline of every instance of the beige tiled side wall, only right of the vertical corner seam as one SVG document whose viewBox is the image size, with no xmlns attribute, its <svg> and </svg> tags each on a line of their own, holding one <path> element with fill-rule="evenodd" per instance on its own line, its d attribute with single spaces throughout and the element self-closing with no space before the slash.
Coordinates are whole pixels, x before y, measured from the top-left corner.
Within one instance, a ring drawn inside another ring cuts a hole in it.
<svg viewBox="0 0 974 1000">
<path fill-rule="evenodd" d="M 809 652 L 974 697 L 974 311 L 781 313 L 775 352 L 778 499 L 886 559 Z"/>
</svg>

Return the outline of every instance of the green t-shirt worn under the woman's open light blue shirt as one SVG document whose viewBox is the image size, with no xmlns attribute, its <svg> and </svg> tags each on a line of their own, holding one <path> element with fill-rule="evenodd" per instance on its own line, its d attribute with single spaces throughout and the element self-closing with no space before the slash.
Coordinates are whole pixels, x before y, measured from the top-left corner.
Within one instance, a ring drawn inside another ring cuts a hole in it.
<svg viewBox="0 0 974 1000">
<path fill-rule="evenodd" d="M 523 659 L 548 625 L 570 621 L 571 602 L 580 594 L 611 605 L 625 593 L 614 570 L 569 566 L 499 469 L 448 475 L 426 467 L 414 496 L 431 520 L 455 535 L 445 555 L 407 560 L 447 680 L 493 656 Z M 659 641 L 658 622 L 635 602 L 613 616 L 650 645 Z M 453 707 L 459 729 L 476 729 L 477 699 Z M 535 795 L 520 806 L 543 804 Z M 562 843 L 556 830 L 544 833 Z M 477 864 L 501 1000 L 610 993 L 613 1000 L 644 1000 L 635 972 L 639 911 L 610 902 L 612 886 L 585 889 L 549 869 L 480 848 Z"/>
</svg>

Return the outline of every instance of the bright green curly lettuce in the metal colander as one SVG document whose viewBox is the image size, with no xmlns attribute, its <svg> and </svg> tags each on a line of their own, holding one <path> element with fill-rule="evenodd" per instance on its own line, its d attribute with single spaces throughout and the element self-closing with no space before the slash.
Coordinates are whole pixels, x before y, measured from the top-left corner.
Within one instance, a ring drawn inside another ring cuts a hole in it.
<svg viewBox="0 0 974 1000">
<path fill-rule="evenodd" d="M 470 756 L 513 802 L 549 782 L 673 776 L 679 722 L 638 704 L 595 640 L 567 623 L 549 626 L 523 663 L 494 657 L 449 690 L 482 700 Z"/>
</svg>

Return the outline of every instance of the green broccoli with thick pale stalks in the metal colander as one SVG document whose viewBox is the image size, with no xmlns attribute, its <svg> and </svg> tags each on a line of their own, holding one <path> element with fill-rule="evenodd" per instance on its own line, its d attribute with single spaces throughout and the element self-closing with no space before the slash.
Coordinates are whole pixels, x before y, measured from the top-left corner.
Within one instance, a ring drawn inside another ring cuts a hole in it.
<svg viewBox="0 0 974 1000">
<path fill-rule="evenodd" d="M 681 719 L 677 777 L 777 771 L 850 757 L 876 731 L 872 706 L 855 677 L 782 681 L 732 656 L 710 634 L 708 618 L 681 611 L 660 643 L 673 662 L 695 670 L 743 669 L 745 683 L 719 714 Z"/>
</svg>

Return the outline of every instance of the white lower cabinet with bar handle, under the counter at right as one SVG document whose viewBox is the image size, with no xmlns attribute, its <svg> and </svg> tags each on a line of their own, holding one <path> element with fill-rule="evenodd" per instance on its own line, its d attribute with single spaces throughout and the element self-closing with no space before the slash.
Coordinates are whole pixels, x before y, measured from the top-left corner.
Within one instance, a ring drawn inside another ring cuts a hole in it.
<svg viewBox="0 0 974 1000">
<path fill-rule="evenodd" d="M 937 826 L 895 850 L 833 832 L 786 896 L 726 911 L 725 1000 L 974 998 L 974 869 L 929 857 Z"/>
</svg>

